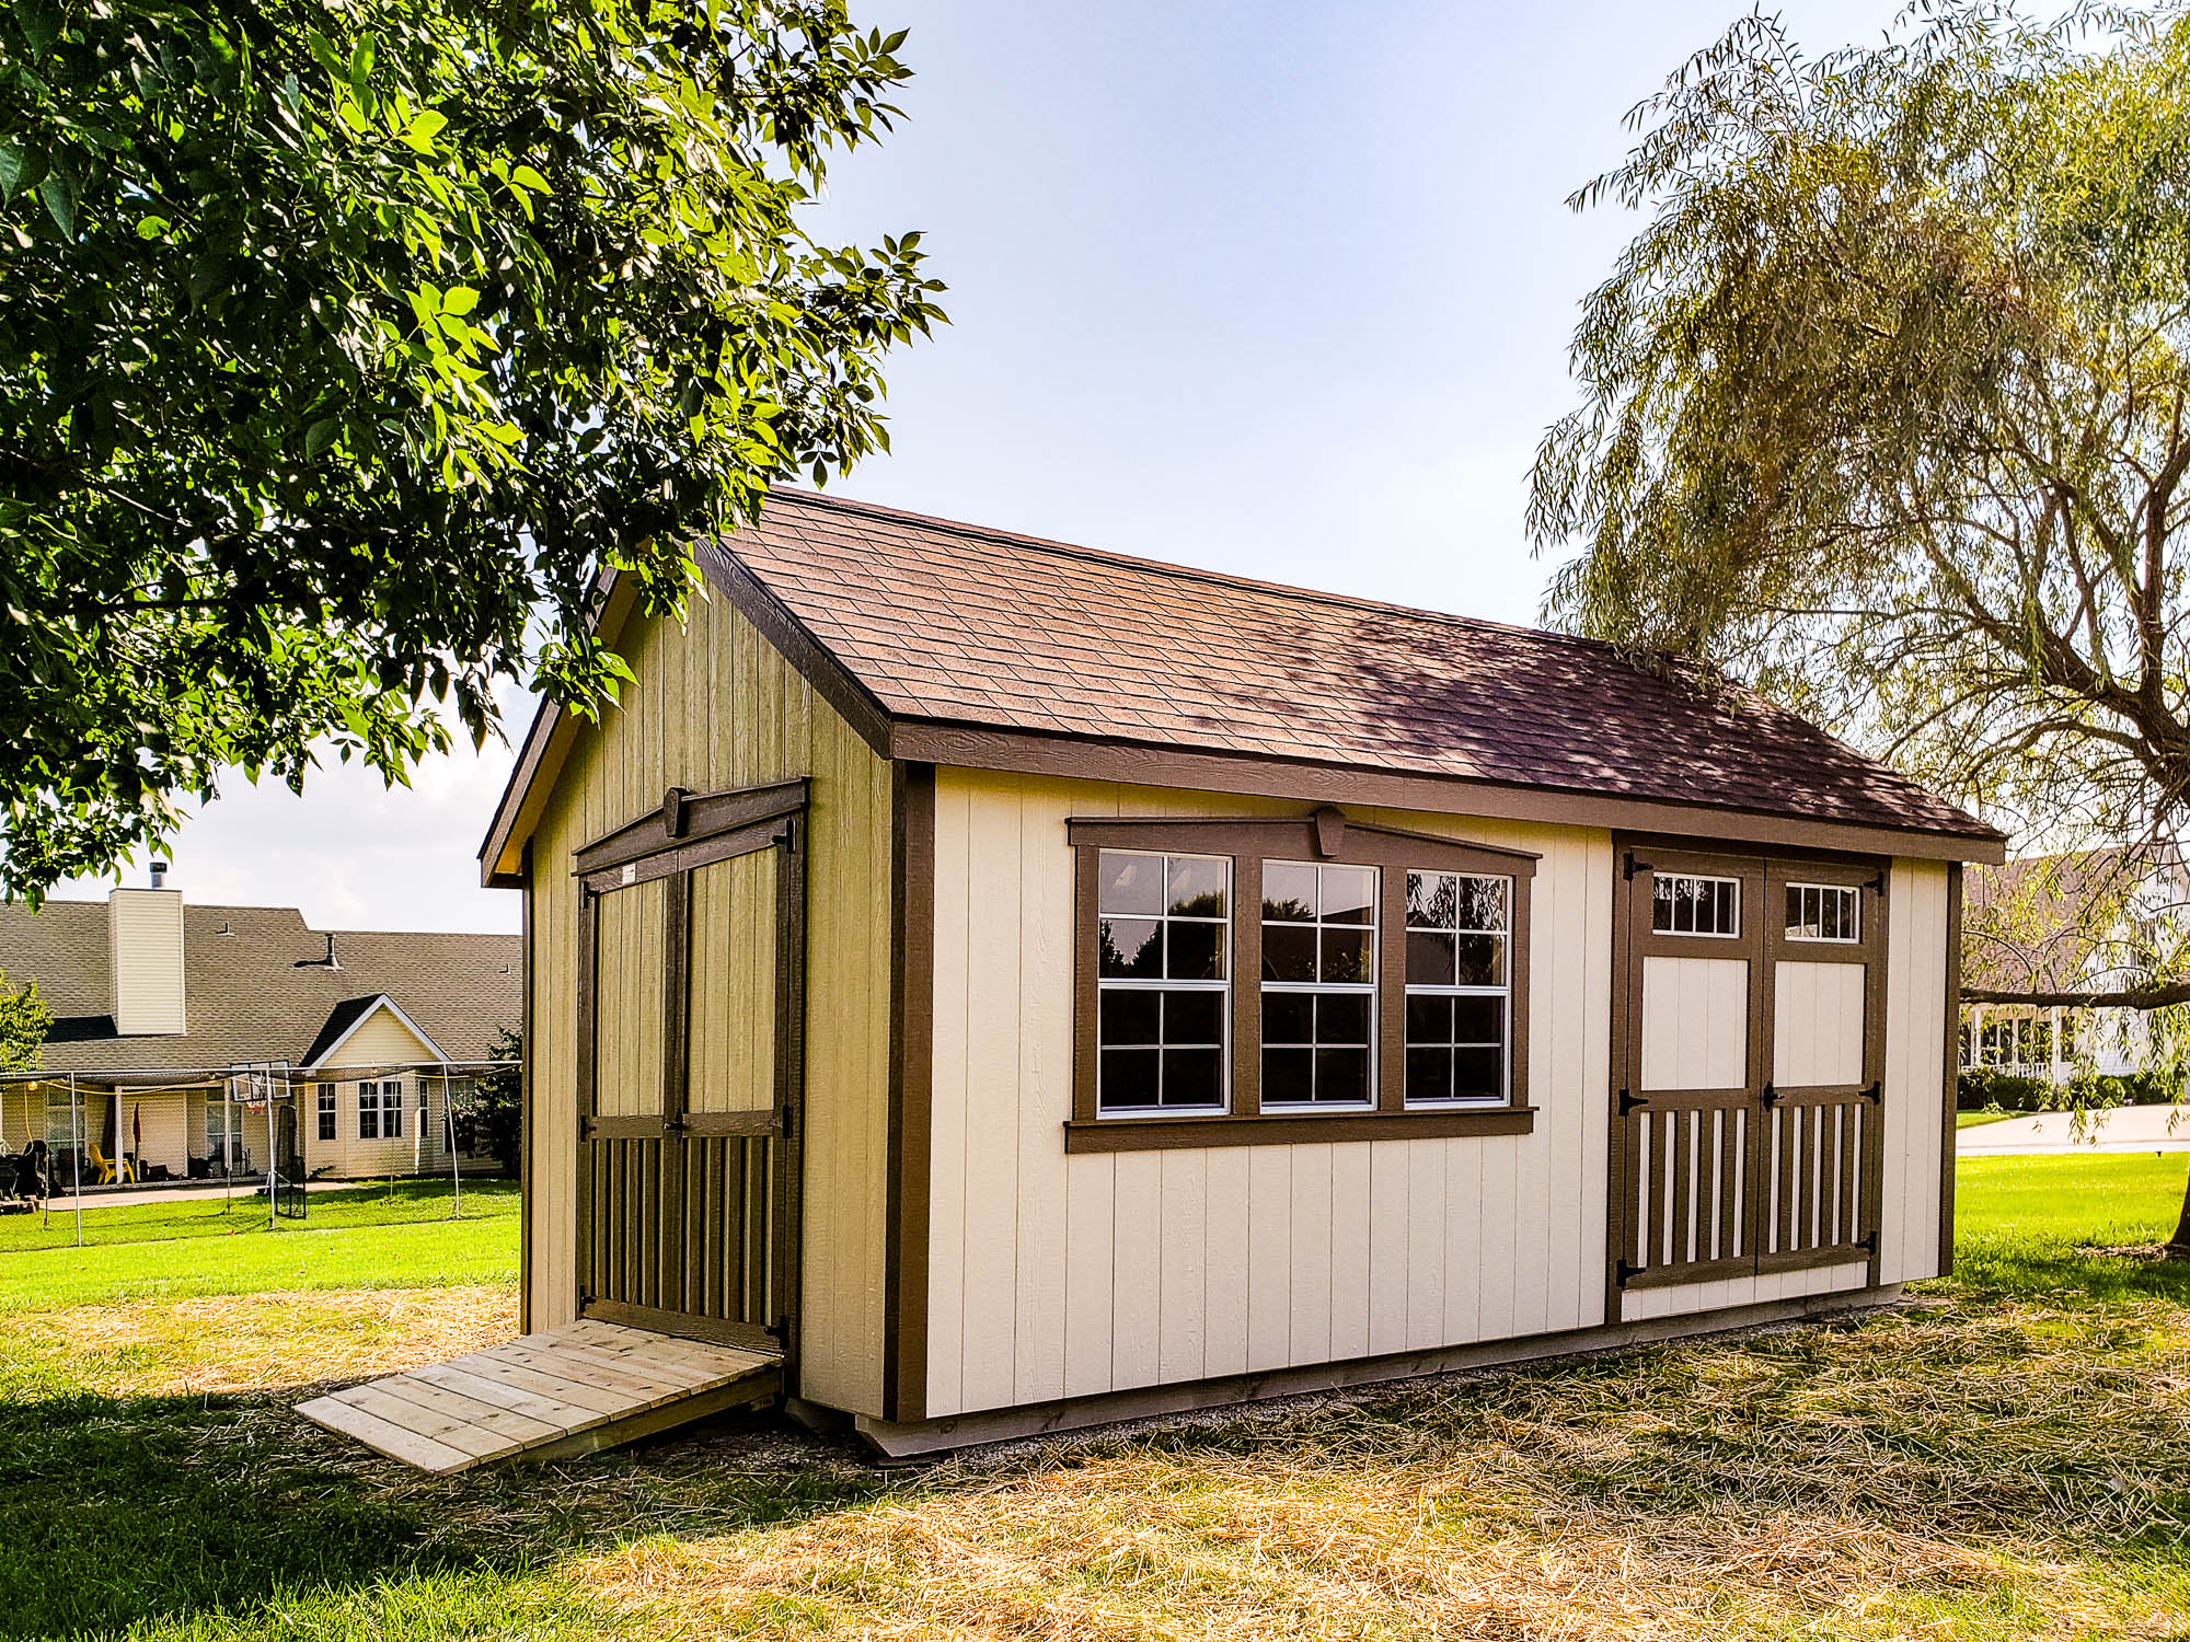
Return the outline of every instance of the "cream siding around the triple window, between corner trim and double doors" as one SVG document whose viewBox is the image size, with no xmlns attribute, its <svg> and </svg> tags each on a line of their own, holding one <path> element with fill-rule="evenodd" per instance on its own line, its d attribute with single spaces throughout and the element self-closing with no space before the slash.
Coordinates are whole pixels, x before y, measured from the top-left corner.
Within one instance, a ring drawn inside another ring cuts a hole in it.
<svg viewBox="0 0 2190 1642">
<path fill-rule="evenodd" d="M 929 1416 L 1603 1318 L 1610 834 L 1353 812 L 1542 856 L 1533 1134 L 1067 1156 L 1075 814 L 1299 806 L 937 771 Z"/>
</svg>

